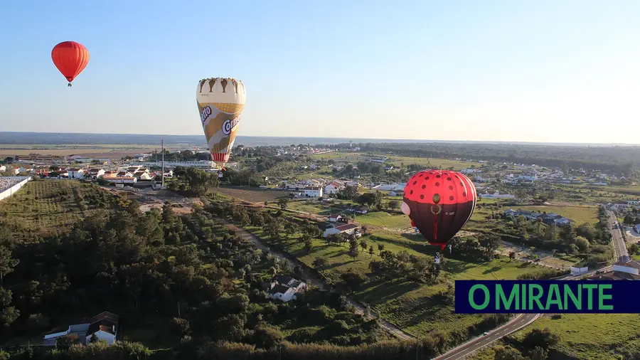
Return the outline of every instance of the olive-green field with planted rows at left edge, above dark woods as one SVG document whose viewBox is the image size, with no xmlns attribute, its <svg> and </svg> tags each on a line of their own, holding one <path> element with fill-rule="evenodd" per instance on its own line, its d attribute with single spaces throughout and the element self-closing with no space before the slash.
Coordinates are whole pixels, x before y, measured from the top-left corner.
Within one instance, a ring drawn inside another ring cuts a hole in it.
<svg viewBox="0 0 640 360">
<path fill-rule="evenodd" d="M 63 233 L 95 211 L 87 200 L 96 194 L 112 196 L 80 181 L 29 181 L 13 198 L 0 201 L 0 219 L 14 228 L 18 238 L 36 232 Z"/>
</svg>

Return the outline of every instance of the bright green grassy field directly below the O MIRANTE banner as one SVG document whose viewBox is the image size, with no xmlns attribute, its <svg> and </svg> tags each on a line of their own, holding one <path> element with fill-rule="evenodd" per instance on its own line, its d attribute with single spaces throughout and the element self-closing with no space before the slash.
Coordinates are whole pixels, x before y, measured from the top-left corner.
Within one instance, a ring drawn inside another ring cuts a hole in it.
<svg viewBox="0 0 640 360">
<path fill-rule="evenodd" d="M 556 347 L 564 354 L 577 359 L 618 359 L 616 349 L 639 342 L 640 314 L 562 314 L 561 319 L 544 316 L 517 332 L 516 337 L 545 327 L 560 335 Z"/>
</svg>

